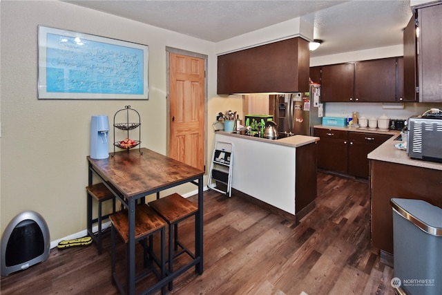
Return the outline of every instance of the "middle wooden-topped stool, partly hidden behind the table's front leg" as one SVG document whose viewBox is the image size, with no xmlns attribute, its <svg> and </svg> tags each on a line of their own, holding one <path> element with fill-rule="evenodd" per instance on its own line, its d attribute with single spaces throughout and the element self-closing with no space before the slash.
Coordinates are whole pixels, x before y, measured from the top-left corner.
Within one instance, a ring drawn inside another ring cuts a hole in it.
<svg viewBox="0 0 442 295">
<path fill-rule="evenodd" d="M 129 222 L 127 209 L 119 211 L 109 216 L 112 222 L 112 250 L 111 250 L 111 268 L 113 282 L 117 284 L 119 291 L 124 294 L 124 285 L 119 280 L 117 273 L 115 272 L 115 231 L 123 239 L 126 244 L 126 259 L 128 259 L 128 240 L 129 240 Z M 164 247 L 166 245 L 166 235 L 164 233 L 166 229 L 166 221 L 153 209 L 148 207 L 147 204 L 137 204 L 135 207 L 135 241 L 140 241 L 143 246 L 144 267 L 149 267 L 145 272 L 136 276 L 135 280 L 140 280 L 144 276 L 153 272 L 159 282 L 149 287 L 143 292 L 143 294 L 149 294 L 156 288 L 162 287 L 162 294 L 165 293 L 165 286 L 162 283 L 162 279 L 166 276 L 166 254 Z M 158 258 L 153 252 L 153 234 L 160 231 L 161 245 L 160 245 L 160 258 Z M 149 238 L 149 244 L 147 246 L 146 240 Z M 160 272 L 155 269 L 155 263 L 159 267 Z M 127 285 L 127 284 L 126 284 Z"/>
</svg>

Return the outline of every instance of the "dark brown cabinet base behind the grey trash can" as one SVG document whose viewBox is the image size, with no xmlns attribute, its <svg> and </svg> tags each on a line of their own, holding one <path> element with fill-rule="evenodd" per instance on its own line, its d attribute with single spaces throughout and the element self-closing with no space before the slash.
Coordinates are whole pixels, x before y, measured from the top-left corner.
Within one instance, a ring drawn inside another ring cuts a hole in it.
<svg viewBox="0 0 442 295">
<path fill-rule="evenodd" d="M 371 160 L 372 246 L 393 254 L 392 198 L 424 200 L 442 208 L 442 171 Z"/>
</svg>

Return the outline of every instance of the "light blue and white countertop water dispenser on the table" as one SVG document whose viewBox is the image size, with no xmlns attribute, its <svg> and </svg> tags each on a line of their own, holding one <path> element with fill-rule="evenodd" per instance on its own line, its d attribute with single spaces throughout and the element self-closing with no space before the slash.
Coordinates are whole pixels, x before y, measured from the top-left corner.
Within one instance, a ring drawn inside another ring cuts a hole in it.
<svg viewBox="0 0 442 295">
<path fill-rule="evenodd" d="M 90 122 L 90 158 L 97 160 L 109 158 L 108 133 L 108 116 L 92 116 Z"/>
</svg>

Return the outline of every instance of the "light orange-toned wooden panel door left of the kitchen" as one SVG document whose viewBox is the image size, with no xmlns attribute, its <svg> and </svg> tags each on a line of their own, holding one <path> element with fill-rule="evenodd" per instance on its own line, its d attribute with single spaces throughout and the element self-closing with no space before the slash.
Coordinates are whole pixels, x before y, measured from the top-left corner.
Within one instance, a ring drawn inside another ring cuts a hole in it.
<svg viewBox="0 0 442 295">
<path fill-rule="evenodd" d="M 204 170 L 204 59 L 169 53 L 169 157 Z"/>
</svg>

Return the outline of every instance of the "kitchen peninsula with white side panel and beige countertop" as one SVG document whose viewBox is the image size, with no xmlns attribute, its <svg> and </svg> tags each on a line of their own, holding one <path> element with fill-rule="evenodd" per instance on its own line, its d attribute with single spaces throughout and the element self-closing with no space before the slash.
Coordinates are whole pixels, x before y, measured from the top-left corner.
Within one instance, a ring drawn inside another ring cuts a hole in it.
<svg viewBox="0 0 442 295">
<path fill-rule="evenodd" d="M 232 188 L 302 218 L 316 198 L 316 142 L 294 135 L 268 140 L 218 131 L 215 140 L 233 144 Z"/>
</svg>

